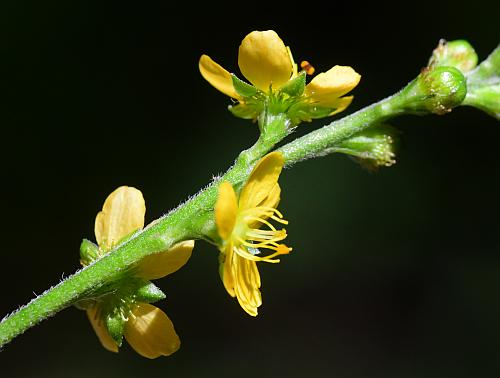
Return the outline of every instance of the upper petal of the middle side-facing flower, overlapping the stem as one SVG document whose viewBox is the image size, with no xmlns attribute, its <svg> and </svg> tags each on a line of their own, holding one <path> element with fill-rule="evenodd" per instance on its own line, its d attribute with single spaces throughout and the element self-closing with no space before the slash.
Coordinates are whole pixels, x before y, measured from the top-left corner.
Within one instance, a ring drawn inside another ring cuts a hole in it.
<svg viewBox="0 0 500 378">
<path fill-rule="evenodd" d="M 273 194 L 284 164 L 283 154 L 277 151 L 260 159 L 241 191 L 240 211 L 259 206 L 270 194 Z"/>
</svg>

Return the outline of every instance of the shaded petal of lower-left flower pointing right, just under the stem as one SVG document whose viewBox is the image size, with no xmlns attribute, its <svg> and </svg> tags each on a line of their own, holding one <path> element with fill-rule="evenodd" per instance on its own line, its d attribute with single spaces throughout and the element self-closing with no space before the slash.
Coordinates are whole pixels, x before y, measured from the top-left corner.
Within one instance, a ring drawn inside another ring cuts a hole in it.
<svg viewBox="0 0 500 378">
<path fill-rule="evenodd" d="M 156 280 L 175 272 L 191 257 L 194 240 L 187 240 L 172 248 L 143 258 L 137 268 L 137 275 L 147 280 Z"/>
</svg>

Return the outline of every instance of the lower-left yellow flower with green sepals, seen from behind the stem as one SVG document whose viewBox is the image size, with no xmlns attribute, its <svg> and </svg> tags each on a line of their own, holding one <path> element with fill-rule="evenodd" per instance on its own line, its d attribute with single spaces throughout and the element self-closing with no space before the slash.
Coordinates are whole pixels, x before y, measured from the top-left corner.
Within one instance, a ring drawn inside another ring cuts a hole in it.
<svg viewBox="0 0 500 378">
<path fill-rule="evenodd" d="M 111 193 L 95 220 L 98 247 L 89 241 L 82 243 L 82 264 L 102 257 L 133 232 L 142 229 L 145 212 L 144 198 L 139 190 L 122 186 Z M 113 292 L 96 296 L 85 306 L 104 348 L 118 352 L 125 336 L 132 348 L 147 358 L 168 356 L 179 349 L 179 336 L 168 316 L 148 303 L 164 298 L 148 280 L 164 277 L 182 267 L 191 256 L 193 246 L 194 241 L 185 241 L 145 257 Z"/>
</svg>

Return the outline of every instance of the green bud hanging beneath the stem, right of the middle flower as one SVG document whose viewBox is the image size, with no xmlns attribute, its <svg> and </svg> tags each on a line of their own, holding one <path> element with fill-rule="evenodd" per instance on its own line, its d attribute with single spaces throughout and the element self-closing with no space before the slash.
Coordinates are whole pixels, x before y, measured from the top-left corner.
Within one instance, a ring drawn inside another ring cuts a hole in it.
<svg viewBox="0 0 500 378">
<path fill-rule="evenodd" d="M 375 170 L 396 163 L 397 130 L 389 125 L 378 125 L 345 140 L 336 152 L 351 155 L 363 167 Z"/>
</svg>

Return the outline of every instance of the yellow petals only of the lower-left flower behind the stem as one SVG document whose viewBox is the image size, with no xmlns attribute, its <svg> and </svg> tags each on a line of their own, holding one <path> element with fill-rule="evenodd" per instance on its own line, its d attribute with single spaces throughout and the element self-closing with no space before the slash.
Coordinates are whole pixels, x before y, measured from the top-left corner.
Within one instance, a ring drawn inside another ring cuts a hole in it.
<svg viewBox="0 0 500 378">
<path fill-rule="evenodd" d="M 122 186 L 111 193 L 95 220 L 99 255 L 104 255 L 132 232 L 142 229 L 145 213 L 144 198 L 139 190 Z M 193 246 L 194 241 L 189 240 L 147 256 L 135 267 L 134 276 L 152 280 L 175 272 L 187 262 Z M 97 301 L 87 309 L 87 315 L 104 348 L 118 352 L 118 345 L 102 319 L 103 306 L 105 304 Z M 125 339 L 141 356 L 168 356 L 179 349 L 179 336 L 168 316 L 158 307 L 133 301 L 121 309 L 121 314 L 125 322 Z"/>
</svg>

